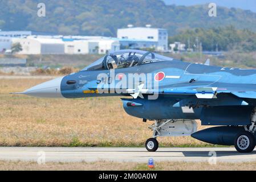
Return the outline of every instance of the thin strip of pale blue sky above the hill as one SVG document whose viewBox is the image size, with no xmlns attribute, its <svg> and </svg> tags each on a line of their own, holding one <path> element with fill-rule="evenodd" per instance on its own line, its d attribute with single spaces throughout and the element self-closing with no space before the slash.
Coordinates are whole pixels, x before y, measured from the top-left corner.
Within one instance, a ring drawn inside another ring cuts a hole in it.
<svg viewBox="0 0 256 182">
<path fill-rule="evenodd" d="M 235 7 L 243 10 L 251 10 L 256 13 L 256 0 L 163 0 L 168 5 L 200 5 L 205 3 L 214 2 L 217 6 Z"/>
</svg>

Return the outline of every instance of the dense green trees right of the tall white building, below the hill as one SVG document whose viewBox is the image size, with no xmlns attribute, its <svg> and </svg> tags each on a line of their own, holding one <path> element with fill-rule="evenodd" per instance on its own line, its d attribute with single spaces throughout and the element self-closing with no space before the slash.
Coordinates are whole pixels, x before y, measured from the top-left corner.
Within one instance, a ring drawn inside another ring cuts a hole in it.
<svg viewBox="0 0 256 182">
<path fill-rule="evenodd" d="M 169 37 L 169 43 L 182 42 L 187 48 L 202 43 L 204 51 L 256 51 L 256 33 L 248 29 L 237 30 L 234 26 L 194 28 Z"/>
</svg>

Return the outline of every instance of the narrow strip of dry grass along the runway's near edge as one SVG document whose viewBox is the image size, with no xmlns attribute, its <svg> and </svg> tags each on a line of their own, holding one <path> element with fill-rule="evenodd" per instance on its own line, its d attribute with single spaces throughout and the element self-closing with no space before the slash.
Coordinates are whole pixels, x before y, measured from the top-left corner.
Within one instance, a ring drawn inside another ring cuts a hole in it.
<svg viewBox="0 0 256 182">
<path fill-rule="evenodd" d="M 216 165 L 210 165 L 209 163 L 194 163 L 194 162 L 160 162 L 155 164 L 153 170 L 164 171 L 255 171 L 256 162 L 247 163 L 217 163 Z M 39 165 L 35 162 L 4 162 L 0 161 L 0 171 L 130 171 L 130 170 L 151 170 L 147 164 L 143 163 L 114 163 L 114 162 L 95 162 L 95 163 L 46 163 Z"/>
</svg>

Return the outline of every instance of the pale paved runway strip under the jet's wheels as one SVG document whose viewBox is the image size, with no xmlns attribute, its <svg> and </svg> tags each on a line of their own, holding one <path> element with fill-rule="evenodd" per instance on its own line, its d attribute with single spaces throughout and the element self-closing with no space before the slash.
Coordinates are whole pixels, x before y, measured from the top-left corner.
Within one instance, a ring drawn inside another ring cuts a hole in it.
<svg viewBox="0 0 256 182">
<path fill-rule="evenodd" d="M 149 158 L 156 162 L 208 162 L 217 155 L 217 162 L 253 162 L 256 150 L 240 154 L 235 148 L 159 148 L 148 152 L 145 148 L 62 148 L 62 147 L 0 147 L 0 160 L 34 161 L 45 156 L 46 162 L 140 162 Z"/>
</svg>

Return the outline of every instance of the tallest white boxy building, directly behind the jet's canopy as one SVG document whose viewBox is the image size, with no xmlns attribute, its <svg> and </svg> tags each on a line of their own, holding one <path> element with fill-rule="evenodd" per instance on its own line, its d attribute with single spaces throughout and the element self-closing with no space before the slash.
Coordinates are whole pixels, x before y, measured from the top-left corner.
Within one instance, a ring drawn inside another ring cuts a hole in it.
<svg viewBox="0 0 256 182">
<path fill-rule="evenodd" d="M 143 47 L 145 48 L 152 48 L 152 43 L 154 43 L 156 51 L 168 51 L 168 31 L 163 28 L 132 27 L 130 25 L 128 28 L 118 29 L 117 38 L 144 41 Z"/>
</svg>

